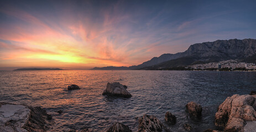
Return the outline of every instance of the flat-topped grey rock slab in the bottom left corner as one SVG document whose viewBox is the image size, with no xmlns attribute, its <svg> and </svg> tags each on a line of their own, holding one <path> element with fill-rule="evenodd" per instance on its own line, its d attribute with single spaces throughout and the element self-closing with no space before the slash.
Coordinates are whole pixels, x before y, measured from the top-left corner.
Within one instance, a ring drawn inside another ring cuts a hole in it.
<svg viewBox="0 0 256 132">
<path fill-rule="evenodd" d="M 46 131 L 51 116 L 40 107 L 0 103 L 0 131 Z"/>
</svg>

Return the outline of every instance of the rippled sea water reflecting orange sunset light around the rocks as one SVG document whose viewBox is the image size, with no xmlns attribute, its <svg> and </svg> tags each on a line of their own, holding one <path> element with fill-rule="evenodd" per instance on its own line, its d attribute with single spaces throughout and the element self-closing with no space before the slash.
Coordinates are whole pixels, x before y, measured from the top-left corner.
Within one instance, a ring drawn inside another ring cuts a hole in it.
<svg viewBox="0 0 256 132">
<path fill-rule="evenodd" d="M 102 96 L 108 82 L 128 86 L 131 98 Z M 67 91 L 76 84 L 80 90 Z M 185 131 L 189 123 L 194 131 L 214 127 L 220 105 L 233 94 L 248 94 L 256 88 L 256 72 L 195 72 L 146 70 L 53 70 L 0 71 L 0 101 L 41 106 L 53 114 L 50 131 L 91 128 L 104 131 L 114 122 L 138 130 L 138 117 L 153 114 L 164 123 L 166 111 L 177 117 L 177 124 L 166 127 Z M 191 120 L 186 103 L 203 107 L 202 119 Z M 62 114 L 56 111 L 64 111 Z"/>
</svg>

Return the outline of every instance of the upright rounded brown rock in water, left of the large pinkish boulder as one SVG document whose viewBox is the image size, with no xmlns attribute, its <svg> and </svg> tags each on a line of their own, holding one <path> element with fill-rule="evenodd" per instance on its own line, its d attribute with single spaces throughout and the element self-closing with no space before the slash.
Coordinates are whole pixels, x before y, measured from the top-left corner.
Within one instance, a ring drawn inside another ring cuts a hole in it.
<svg viewBox="0 0 256 132">
<path fill-rule="evenodd" d="M 195 102 L 189 102 L 186 105 L 187 111 L 189 111 L 190 116 L 194 118 L 200 118 L 202 116 L 202 106 Z"/>
</svg>

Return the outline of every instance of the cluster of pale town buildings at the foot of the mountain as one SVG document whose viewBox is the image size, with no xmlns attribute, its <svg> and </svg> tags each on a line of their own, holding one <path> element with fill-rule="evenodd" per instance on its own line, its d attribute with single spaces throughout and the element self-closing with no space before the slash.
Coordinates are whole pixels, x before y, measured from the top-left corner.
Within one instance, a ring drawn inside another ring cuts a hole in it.
<svg viewBox="0 0 256 132">
<path fill-rule="evenodd" d="M 256 70 L 256 64 L 254 63 L 245 63 L 245 62 L 239 62 L 236 60 L 228 60 L 228 61 L 222 61 L 222 62 L 212 62 L 207 64 L 196 64 L 196 65 L 190 65 L 190 68 L 193 69 L 221 69 L 221 68 L 245 68 L 249 70 Z"/>
</svg>

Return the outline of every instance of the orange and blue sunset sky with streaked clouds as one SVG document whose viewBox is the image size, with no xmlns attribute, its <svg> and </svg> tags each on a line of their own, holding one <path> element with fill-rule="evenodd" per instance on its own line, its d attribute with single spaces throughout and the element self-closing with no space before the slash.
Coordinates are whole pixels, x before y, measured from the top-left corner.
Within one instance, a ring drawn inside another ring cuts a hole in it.
<svg viewBox="0 0 256 132">
<path fill-rule="evenodd" d="M 256 1 L 1 1 L 0 69 L 138 65 L 256 38 Z"/>
</svg>

